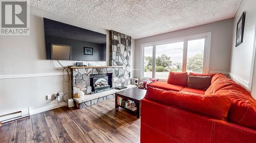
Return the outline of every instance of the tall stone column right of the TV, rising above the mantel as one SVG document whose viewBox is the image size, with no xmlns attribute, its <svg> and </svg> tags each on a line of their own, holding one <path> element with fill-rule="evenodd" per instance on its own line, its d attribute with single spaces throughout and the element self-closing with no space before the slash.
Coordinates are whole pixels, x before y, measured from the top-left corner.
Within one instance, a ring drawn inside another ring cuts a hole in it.
<svg viewBox="0 0 256 143">
<path fill-rule="evenodd" d="M 110 31 L 110 66 L 123 67 L 123 71 L 119 73 L 122 77 L 118 77 L 120 81 L 118 86 L 126 86 L 131 82 L 131 44 L 131 36 L 116 31 Z"/>
</svg>

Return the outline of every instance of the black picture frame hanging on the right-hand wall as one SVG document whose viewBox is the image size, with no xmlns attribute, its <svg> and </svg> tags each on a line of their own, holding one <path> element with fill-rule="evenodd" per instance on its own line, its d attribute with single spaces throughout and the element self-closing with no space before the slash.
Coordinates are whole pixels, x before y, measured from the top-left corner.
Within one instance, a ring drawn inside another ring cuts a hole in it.
<svg viewBox="0 0 256 143">
<path fill-rule="evenodd" d="M 244 23 L 245 23 L 245 12 L 243 12 L 242 16 L 240 17 L 237 23 L 236 47 L 239 46 L 241 43 L 243 43 Z"/>
</svg>

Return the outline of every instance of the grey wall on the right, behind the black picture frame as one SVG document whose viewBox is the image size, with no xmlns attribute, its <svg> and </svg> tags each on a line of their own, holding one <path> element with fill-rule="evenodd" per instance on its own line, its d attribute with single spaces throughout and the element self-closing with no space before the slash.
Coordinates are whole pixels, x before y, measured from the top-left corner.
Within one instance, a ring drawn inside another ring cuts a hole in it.
<svg viewBox="0 0 256 143">
<path fill-rule="evenodd" d="M 251 90 L 252 96 L 256 99 L 256 70 L 253 65 L 255 55 L 255 24 L 256 24 L 256 1 L 241 1 L 238 11 L 234 17 L 232 54 L 230 60 L 230 73 L 232 79 L 241 82 L 247 90 Z M 243 43 L 236 47 L 237 22 L 242 13 L 246 11 Z M 246 85 L 244 85 L 246 84 Z M 251 87 L 252 86 L 252 87 Z M 250 88 L 251 87 L 251 88 Z"/>
</svg>

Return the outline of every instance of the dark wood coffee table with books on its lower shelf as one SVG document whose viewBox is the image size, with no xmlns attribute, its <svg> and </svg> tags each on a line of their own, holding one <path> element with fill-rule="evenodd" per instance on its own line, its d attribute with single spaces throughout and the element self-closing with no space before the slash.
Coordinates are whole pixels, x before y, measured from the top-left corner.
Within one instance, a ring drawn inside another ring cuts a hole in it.
<svg viewBox="0 0 256 143">
<path fill-rule="evenodd" d="M 120 105 L 117 104 L 117 102 L 118 102 L 117 97 L 124 98 L 125 100 L 132 100 L 136 104 L 137 109 L 135 111 L 132 111 L 130 109 L 127 109 L 127 110 L 130 110 L 131 112 L 135 112 L 136 117 L 140 118 L 140 100 L 144 98 L 145 94 L 146 94 L 146 90 L 137 89 L 137 88 L 131 88 L 131 89 L 127 89 L 127 90 L 124 90 L 124 91 L 117 92 L 115 94 L 116 108 L 122 107 L 124 109 L 127 109 L 124 106 L 120 106 Z"/>
</svg>

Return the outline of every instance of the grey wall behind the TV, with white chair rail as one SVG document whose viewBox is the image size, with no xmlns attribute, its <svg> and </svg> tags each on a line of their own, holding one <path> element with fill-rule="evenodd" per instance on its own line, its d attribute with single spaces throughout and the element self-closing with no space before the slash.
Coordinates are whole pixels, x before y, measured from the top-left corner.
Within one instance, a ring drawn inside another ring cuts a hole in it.
<svg viewBox="0 0 256 143">
<path fill-rule="evenodd" d="M 55 94 L 58 91 L 68 91 L 68 84 L 63 81 L 61 75 L 62 71 L 55 70 L 51 61 L 45 60 L 42 17 L 106 34 L 106 57 L 109 61 L 109 31 L 31 7 L 29 36 L 0 36 L 0 115 L 27 107 L 37 109 L 56 104 L 55 101 L 47 101 L 46 95 Z M 67 66 L 73 65 L 77 61 L 60 62 Z M 96 62 L 83 63 L 97 65 Z M 98 63 L 107 65 L 109 62 Z M 60 68 L 56 61 L 54 61 L 54 64 L 57 68 Z M 4 76 L 7 79 L 1 79 Z M 12 76 L 28 77 L 10 78 Z"/>
</svg>

